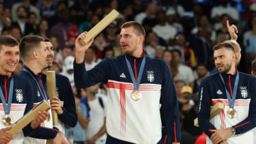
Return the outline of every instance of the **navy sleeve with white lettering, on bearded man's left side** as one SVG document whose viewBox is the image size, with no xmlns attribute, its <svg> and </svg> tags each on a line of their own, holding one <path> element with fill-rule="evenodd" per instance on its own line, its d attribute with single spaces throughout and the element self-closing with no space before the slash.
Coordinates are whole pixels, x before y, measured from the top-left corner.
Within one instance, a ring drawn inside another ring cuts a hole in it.
<svg viewBox="0 0 256 144">
<path fill-rule="evenodd" d="M 205 79 L 201 82 L 200 89 L 199 89 L 199 96 L 198 96 L 198 124 L 208 135 L 210 138 L 212 136 L 212 132 L 210 130 L 216 130 L 214 125 L 210 123 L 210 107 L 211 107 L 211 98 L 209 94 L 210 86 L 207 85 Z"/>
</svg>

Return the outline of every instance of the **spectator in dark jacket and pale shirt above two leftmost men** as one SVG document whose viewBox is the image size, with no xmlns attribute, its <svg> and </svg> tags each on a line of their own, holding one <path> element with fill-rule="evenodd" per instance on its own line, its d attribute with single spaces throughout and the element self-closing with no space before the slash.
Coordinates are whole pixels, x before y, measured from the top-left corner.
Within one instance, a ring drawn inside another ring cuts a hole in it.
<svg viewBox="0 0 256 144">
<path fill-rule="evenodd" d="M 17 20 L 12 23 L 13 26 L 20 29 L 21 35 L 28 35 L 33 33 L 33 25 L 27 23 L 27 12 L 23 5 L 16 9 Z"/>
</svg>

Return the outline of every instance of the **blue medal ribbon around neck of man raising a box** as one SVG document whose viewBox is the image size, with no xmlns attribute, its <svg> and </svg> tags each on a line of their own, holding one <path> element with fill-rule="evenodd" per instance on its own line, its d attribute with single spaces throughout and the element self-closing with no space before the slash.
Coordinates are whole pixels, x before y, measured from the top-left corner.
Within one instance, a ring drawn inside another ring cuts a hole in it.
<svg viewBox="0 0 256 144">
<path fill-rule="evenodd" d="M 126 55 L 124 55 L 124 57 L 126 58 Z M 126 58 L 126 65 L 128 67 L 130 77 L 132 78 L 132 83 L 133 83 L 134 90 L 138 90 L 139 89 L 139 83 L 141 83 L 141 76 L 142 76 L 144 66 L 145 66 L 145 55 L 143 56 L 143 60 L 142 60 L 142 63 L 141 63 L 141 68 L 139 68 L 139 76 L 138 76 L 137 82 L 136 82 L 135 76 L 132 72 L 132 66 L 130 66 L 130 62 L 128 61 L 127 58 Z"/>
</svg>

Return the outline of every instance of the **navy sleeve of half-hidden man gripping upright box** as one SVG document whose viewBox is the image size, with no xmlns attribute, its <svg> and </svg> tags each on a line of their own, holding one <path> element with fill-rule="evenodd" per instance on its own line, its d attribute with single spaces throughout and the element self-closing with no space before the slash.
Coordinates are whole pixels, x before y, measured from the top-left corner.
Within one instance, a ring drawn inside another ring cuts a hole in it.
<svg viewBox="0 0 256 144">
<path fill-rule="evenodd" d="M 64 105 L 62 107 L 63 113 L 61 115 L 58 115 L 58 118 L 63 124 L 66 124 L 70 127 L 76 126 L 77 123 L 77 116 L 76 116 L 76 106 L 74 104 L 74 93 L 72 91 L 70 82 L 68 81 L 68 78 L 63 77 L 63 88 L 65 93 L 64 96 L 59 96 L 63 98 Z"/>
</svg>

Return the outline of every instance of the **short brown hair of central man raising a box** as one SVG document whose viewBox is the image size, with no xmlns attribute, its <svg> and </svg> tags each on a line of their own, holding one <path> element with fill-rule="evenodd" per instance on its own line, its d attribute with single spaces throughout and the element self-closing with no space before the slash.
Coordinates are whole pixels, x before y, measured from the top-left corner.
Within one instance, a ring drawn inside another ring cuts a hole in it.
<svg viewBox="0 0 256 144">
<path fill-rule="evenodd" d="M 136 30 L 134 32 L 137 33 L 137 35 L 143 35 L 145 38 L 145 35 L 146 35 L 145 29 L 140 23 L 138 23 L 136 21 L 128 21 L 121 26 L 121 29 L 124 29 L 127 27 L 133 27 Z"/>
</svg>

